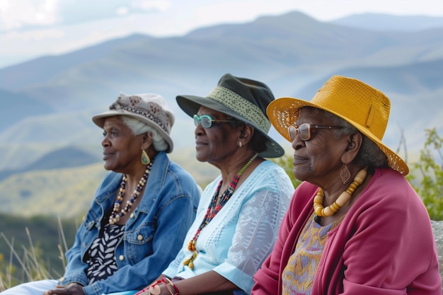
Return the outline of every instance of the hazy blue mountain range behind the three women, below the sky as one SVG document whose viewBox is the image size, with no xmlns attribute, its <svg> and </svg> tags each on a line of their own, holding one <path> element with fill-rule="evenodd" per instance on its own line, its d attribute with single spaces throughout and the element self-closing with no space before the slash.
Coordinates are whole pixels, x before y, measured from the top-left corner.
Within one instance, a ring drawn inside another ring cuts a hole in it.
<svg viewBox="0 0 443 295">
<path fill-rule="evenodd" d="M 384 142 L 404 158 L 417 156 L 425 129 L 443 131 L 443 18 L 364 14 L 321 22 L 294 11 L 177 37 L 130 35 L 0 69 L 0 199 L 20 198 L 11 180 L 17 175 L 100 162 L 101 131 L 91 117 L 120 92 L 166 98 L 176 114 L 173 157 L 192 170 L 195 160 L 180 154 L 192 154 L 193 122 L 175 97 L 205 96 L 225 73 L 263 81 L 276 98 L 310 100 L 334 74 L 369 83 L 391 99 Z"/>
</svg>

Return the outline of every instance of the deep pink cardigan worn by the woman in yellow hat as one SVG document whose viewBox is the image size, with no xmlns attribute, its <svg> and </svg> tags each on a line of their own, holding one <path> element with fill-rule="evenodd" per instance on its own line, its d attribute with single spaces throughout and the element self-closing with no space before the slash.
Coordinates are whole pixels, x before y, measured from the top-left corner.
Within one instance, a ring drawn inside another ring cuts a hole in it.
<svg viewBox="0 0 443 295">
<path fill-rule="evenodd" d="M 301 183 L 294 192 L 271 255 L 254 276 L 252 295 L 282 294 L 282 270 L 318 187 Z M 408 181 L 376 169 L 341 224 L 328 233 L 312 293 L 442 295 L 430 218 Z"/>
</svg>

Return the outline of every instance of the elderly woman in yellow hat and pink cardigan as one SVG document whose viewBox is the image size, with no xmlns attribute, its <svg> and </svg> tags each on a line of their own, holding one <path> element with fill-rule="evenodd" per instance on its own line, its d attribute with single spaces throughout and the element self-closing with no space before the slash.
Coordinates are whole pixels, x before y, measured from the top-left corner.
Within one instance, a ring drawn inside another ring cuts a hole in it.
<svg viewBox="0 0 443 295">
<path fill-rule="evenodd" d="M 267 108 L 292 142 L 292 197 L 252 294 L 442 294 L 430 218 L 381 142 L 391 103 L 361 81 L 333 76 L 311 102 Z"/>
</svg>

